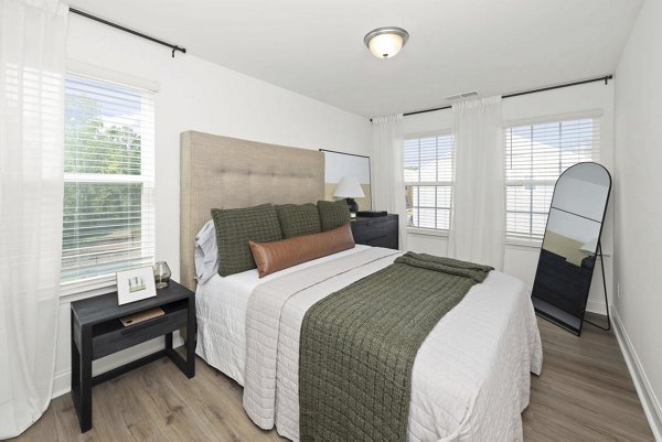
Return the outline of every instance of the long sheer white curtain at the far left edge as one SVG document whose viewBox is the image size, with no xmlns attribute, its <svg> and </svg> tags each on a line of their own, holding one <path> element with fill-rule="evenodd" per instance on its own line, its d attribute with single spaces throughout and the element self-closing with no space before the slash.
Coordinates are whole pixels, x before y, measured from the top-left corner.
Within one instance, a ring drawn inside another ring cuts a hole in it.
<svg viewBox="0 0 662 442">
<path fill-rule="evenodd" d="M 67 13 L 0 1 L 0 439 L 36 421 L 53 387 Z"/>
</svg>

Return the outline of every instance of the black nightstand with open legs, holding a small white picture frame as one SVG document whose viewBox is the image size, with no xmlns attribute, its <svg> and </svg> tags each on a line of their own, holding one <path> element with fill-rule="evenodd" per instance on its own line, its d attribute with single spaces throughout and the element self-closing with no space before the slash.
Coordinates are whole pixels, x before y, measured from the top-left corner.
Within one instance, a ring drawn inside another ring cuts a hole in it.
<svg viewBox="0 0 662 442">
<path fill-rule="evenodd" d="M 161 308 L 166 314 L 125 327 L 120 317 Z M 172 332 L 186 328 L 186 359 L 172 348 Z M 166 335 L 166 348 L 121 367 L 92 376 L 92 362 Z M 195 298 L 174 281 L 157 295 L 117 305 L 117 292 L 72 302 L 72 398 L 81 431 L 92 429 L 92 387 L 168 356 L 188 378 L 195 376 Z"/>
</svg>

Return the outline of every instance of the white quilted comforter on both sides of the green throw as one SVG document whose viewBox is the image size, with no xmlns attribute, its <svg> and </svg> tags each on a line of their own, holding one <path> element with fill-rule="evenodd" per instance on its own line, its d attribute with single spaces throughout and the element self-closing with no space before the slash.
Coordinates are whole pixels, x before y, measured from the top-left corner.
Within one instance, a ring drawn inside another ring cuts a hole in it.
<svg viewBox="0 0 662 442">
<path fill-rule="evenodd" d="M 273 278 L 248 300 L 244 408 L 264 429 L 299 435 L 299 334 L 320 299 L 393 262 L 371 248 Z M 530 371 L 542 347 L 522 281 L 490 272 L 435 326 L 414 363 L 409 441 L 521 441 Z"/>
</svg>

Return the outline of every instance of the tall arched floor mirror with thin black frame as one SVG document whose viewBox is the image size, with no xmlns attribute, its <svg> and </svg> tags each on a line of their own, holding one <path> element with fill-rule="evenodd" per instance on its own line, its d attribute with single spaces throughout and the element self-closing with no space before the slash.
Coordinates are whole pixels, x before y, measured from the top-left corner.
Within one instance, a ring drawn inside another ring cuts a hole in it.
<svg viewBox="0 0 662 442">
<path fill-rule="evenodd" d="M 531 298 L 538 315 L 576 335 L 581 334 L 597 257 L 601 261 L 610 191 L 607 169 L 586 162 L 568 168 L 552 196 Z M 602 262 L 600 270 L 605 282 Z"/>
</svg>

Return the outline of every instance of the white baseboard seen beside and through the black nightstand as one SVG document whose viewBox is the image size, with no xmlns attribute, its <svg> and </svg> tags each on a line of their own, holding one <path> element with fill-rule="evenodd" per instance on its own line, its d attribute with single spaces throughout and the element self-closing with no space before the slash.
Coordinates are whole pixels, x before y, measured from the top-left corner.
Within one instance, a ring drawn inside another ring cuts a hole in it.
<svg viewBox="0 0 662 442">
<path fill-rule="evenodd" d="M 172 338 L 172 345 L 179 347 L 183 345 L 183 339 L 179 336 L 179 332 L 175 332 Z M 96 360 L 92 367 L 93 375 L 96 376 L 104 371 L 111 370 L 131 360 L 140 359 L 143 356 L 150 355 L 163 348 L 163 338 L 158 337 L 156 339 L 148 341 L 142 344 L 135 345 L 121 352 L 113 355 L 103 357 Z M 56 373 L 53 377 L 53 395 L 52 399 L 58 396 L 65 395 L 71 391 L 72 387 L 72 370 L 71 367 L 66 370 Z"/>
</svg>

